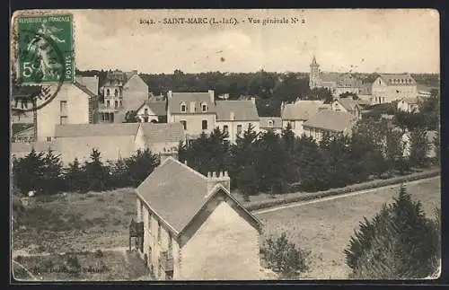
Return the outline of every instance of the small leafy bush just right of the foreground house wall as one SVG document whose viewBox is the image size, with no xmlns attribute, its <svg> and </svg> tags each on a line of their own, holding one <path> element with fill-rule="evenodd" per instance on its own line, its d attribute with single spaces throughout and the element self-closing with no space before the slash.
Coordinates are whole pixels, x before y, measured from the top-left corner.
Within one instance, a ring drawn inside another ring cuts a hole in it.
<svg viewBox="0 0 449 290">
<path fill-rule="evenodd" d="M 280 277 L 295 278 L 308 269 L 306 259 L 310 251 L 297 248 L 295 243 L 288 241 L 286 233 L 282 233 L 277 240 L 267 239 L 261 252 L 269 268 Z"/>
</svg>

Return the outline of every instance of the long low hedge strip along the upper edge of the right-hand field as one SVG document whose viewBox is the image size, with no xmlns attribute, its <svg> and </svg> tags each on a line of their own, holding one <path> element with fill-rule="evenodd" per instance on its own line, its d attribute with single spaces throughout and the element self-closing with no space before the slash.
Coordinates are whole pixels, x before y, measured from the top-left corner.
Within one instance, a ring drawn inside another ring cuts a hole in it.
<svg viewBox="0 0 449 290">
<path fill-rule="evenodd" d="M 340 189 L 329 189 L 329 190 L 323 190 L 323 191 L 317 191 L 317 192 L 295 192 L 294 196 L 288 196 L 288 197 L 281 196 L 279 198 L 248 202 L 248 203 L 245 203 L 245 208 L 250 211 L 260 210 L 260 209 L 264 209 L 264 208 L 277 207 L 277 206 L 286 205 L 286 204 L 299 202 L 299 201 L 307 201 L 307 200 L 312 200 L 312 199 L 317 199 L 317 198 L 326 198 L 326 197 L 330 197 L 330 196 L 337 196 L 337 195 L 341 195 L 341 194 L 345 194 L 345 193 L 349 193 L 349 192 L 353 192 L 353 191 L 358 191 L 358 190 L 375 189 L 375 188 L 399 184 L 399 183 L 407 182 L 407 181 L 422 180 L 422 179 L 435 177 L 438 175 L 440 175 L 440 169 L 423 171 L 423 172 L 415 172 L 415 173 L 411 173 L 409 175 L 398 176 L 398 177 L 394 177 L 394 178 L 388 179 L 388 180 L 367 181 L 367 182 L 363 182 L 363 183 L 349 185 L 345 188 L 340 188 Z"/>
</svg>

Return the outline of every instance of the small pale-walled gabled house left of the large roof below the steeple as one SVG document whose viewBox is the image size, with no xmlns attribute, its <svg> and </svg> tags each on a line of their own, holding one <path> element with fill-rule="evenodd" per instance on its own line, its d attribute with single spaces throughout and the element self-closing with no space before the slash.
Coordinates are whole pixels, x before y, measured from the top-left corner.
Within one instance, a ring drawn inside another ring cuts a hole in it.
<svg viewBox="0 0 449 290">
<path fill-rule="evenodd" d="M 326 110 L 323 107 L 323 101 L 300 100 L 293 104 L 281 104 L 282 127 L 286 128 L 288 124 L 292 127 L 295 136 L 304 134 L 303 124 L 320 110 Z"/>
</svg>

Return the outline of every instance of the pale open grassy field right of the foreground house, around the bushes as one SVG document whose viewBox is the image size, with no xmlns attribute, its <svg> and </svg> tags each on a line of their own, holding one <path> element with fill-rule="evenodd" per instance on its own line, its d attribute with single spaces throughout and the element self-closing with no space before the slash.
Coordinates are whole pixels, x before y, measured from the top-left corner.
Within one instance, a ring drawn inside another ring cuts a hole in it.
<svg viewBox="0 0 449 290">
<path fill-rule="evenodd" d="M 441 207 L 440 179 L 425 180 L 407 187 L 413 198 L 423 205 L 426 215 Z M 292 242 L 311 250 L 310 269 L 304 278 L 345 279 L 349 268 L 343 250 L 363 217 L 371 218 L 392 202 L 398 186 L 348 198 L 337 198 L 302 207 L 291 207 L 260 214 L 265 224 L 265 238 L 286 232 Z"/>
</svg>

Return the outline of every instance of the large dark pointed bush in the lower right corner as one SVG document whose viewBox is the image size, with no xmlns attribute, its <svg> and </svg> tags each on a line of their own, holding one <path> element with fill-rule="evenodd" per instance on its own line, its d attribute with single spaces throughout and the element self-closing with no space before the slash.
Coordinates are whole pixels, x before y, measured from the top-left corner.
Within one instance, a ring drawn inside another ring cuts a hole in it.
<svg viewBox="0 0 449 290">
<path fill-rule="evenodd" d="M 401 187 L 394 202 L 360 223 L 344 250 L 351 278 L 424 278 L 436 271 L 439 229 Z"/>
</svg>

